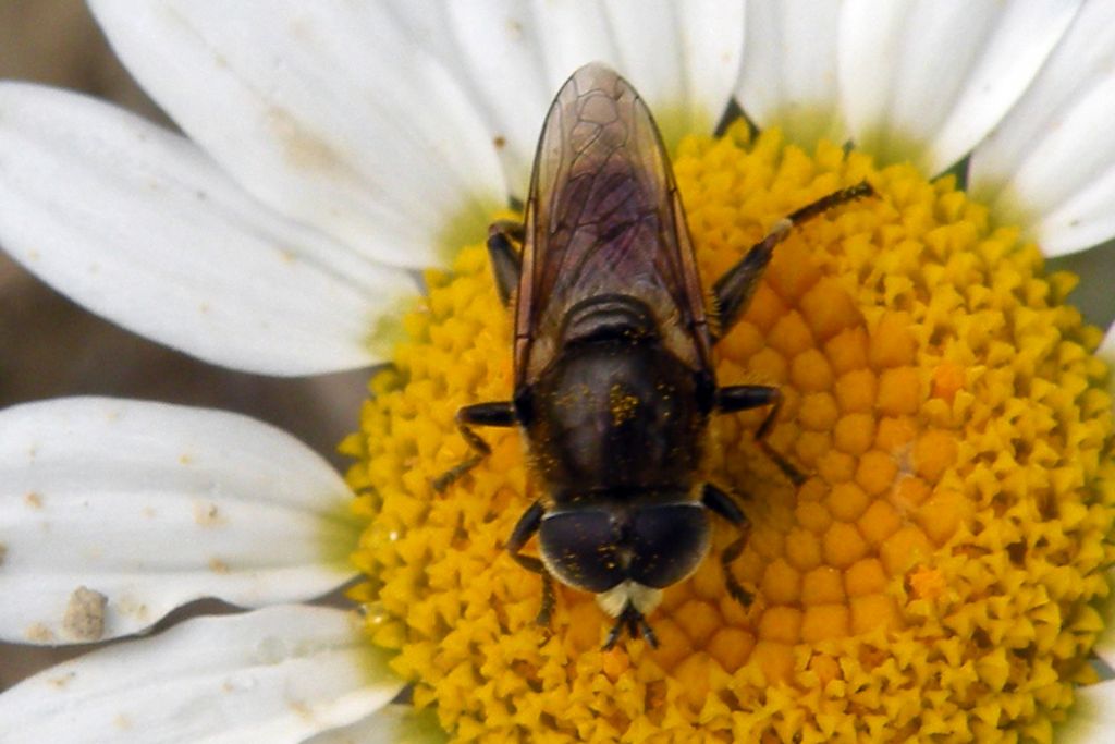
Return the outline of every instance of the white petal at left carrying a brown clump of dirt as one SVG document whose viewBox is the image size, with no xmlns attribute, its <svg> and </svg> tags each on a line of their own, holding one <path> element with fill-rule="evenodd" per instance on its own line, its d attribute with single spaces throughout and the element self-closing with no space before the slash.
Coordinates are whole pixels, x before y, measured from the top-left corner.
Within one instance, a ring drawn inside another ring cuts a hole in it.
<svg viewBox="0 0 1115 744">
<path fill-rule="evenodd" d="M 245 416 L 109 398 L 8 408 L 0 638 L 87 642 L 202 597 L 320 596 L 352 573 L 351 499 L 320 456 Z"/>
</svg>

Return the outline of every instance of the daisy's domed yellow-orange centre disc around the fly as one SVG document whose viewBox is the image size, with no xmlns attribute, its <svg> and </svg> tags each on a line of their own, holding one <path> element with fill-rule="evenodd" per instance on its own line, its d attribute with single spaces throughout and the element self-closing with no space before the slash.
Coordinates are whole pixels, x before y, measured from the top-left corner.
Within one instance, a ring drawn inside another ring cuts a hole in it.
<svg viewBox="0 0 1115 744">
<path fill-rule="evenodd" d="M 1111 398 L 1099 332 L 1061 303 L 1073 278 L 909 166 L 737 126 L 686 139 L 675 168 L 706 287 L 798 206 L 864 177 L 880 193 L 779 245 L 716 347 L 720 385 L 785 393 L 769 442 L 807 476 L 755 445 L 765 412 L 715 418 L 704 475 L 754 524 L 731 566 L 754 605 L 725 590 L 719 524 L 648 618 L 657 650 L 602 651 L 613 620 L 564 587 L 535 625 L 540 578 L 503 549 L 532 501 L 518 435 L 484 429 L 492 455 L 430 487 L 468 455 L 457 408 L 512 392 L 475 245 L 427 274 L 346 442 L 372 640 L 457 741 L 1049 741 L 1115 558 Z"/>
</svg>

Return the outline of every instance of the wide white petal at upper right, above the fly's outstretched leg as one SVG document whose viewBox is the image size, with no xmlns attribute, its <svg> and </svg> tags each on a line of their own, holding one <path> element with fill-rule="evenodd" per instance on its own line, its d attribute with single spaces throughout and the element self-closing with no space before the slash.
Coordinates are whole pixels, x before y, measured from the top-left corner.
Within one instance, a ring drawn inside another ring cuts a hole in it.
<svg viewBox="0 0 1115 744">
<path fill-rule="evenodd" d="M 883 162 L 947 168 L 999 123 L 1079 4 L 849 0 L 840 83 L 856 145 Z"/>
</svg>

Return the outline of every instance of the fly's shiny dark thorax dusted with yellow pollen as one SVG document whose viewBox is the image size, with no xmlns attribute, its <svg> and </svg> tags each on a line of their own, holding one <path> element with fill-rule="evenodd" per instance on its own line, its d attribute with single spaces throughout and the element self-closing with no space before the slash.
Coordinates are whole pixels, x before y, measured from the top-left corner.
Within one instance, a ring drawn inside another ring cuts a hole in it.
<svg viewBox="0 0 1115 744">
<path fill-rule="evenodd" d="M 707 380 L 621 302 L 571 321 L 553 363 L 516 396 L 546 490 L 687 491 L 707 436 Z"/>
</svg>

